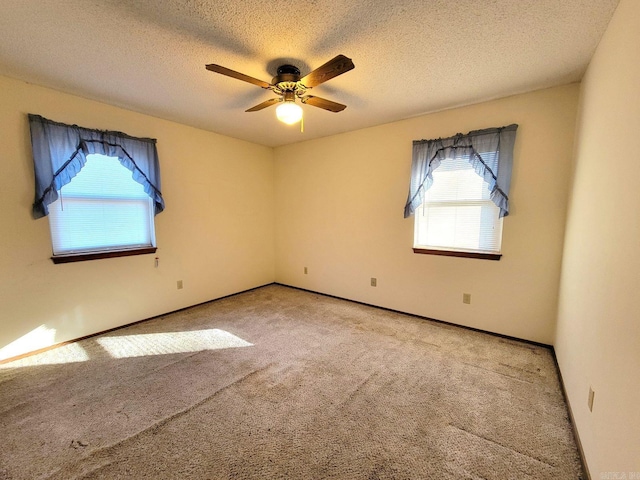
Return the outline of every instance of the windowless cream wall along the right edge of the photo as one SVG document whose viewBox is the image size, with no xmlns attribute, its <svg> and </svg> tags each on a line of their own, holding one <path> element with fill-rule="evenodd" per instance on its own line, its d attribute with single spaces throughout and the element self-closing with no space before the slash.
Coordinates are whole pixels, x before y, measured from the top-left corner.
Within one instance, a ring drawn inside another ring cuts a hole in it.
<svg viewBox="0 0 640 480">
<path fill-rule="evenodd" d="M 582 83 L 562 268 L 555 348 L 593 479 L 640 478 L 639 27 L 622 0 Z"/>
</svg>

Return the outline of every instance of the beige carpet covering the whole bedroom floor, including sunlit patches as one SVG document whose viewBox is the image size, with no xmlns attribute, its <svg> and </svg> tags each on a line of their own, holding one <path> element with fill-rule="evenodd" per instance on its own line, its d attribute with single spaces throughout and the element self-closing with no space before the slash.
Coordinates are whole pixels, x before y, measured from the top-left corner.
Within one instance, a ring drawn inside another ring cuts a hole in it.
<svg viewBox="0 0 640 480">
<path fill-rule="evenodd" d="M 550 350 L 279 285 L 0 365 L 0 432 L 0 479 L 581 476 Z"/>
</svg>

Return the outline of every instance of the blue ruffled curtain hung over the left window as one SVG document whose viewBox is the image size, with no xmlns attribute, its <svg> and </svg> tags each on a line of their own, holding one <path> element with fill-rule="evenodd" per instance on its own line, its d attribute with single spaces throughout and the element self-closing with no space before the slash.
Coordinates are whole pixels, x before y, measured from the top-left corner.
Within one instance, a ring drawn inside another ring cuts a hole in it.
<svg viewBox="0 0 640 480">
<path fill-rule="evenodd" d="M 76 176 L 92 153 L 118 157 L 153 200 L 155 215 L 164 210 L 155 139 L 65 125 L 32 114 L 29 126 L 36 181 L 34 218 L 49 214 L 48 207 L 58 199 L 60 189 Z"/>
</svg>

